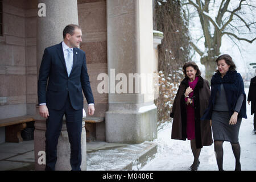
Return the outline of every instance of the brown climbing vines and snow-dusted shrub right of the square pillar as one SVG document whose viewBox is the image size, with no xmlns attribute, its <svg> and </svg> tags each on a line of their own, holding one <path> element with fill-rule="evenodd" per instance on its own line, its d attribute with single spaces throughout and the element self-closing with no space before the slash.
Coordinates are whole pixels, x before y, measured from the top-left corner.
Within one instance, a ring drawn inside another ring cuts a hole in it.
<svg viewBox="0 0 256 182">
<path fill-rule="evenodd" d="M 155 0 L 154 10 L 154 28 L 164 34 L 158 46 L 159 97 L 155 100 L 162 123 L 171 119 L 172 103 L 184 78 L 183 64 L 191 60 L 191 46 L 180 0 Z"/>
</svg>

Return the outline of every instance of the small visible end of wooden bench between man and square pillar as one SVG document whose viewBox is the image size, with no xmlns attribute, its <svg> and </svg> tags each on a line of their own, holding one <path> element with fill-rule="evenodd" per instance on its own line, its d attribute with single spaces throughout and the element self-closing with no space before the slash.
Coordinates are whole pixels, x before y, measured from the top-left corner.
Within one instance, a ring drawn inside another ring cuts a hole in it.
<svg viewBox="0 0 256 182">
<path fill-rule="evenodd" d="M 96 139 L 96 124 L 104 121 L 104 118 L 86 117 L 85 121 L 86 141 L 90 142 Z"/>
</svg>

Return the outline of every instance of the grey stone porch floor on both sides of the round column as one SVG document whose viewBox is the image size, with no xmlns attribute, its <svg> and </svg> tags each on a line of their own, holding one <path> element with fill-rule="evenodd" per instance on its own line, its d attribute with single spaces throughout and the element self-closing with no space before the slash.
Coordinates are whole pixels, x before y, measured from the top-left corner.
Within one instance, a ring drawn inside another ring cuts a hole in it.
<svg viewBox="0 0 256 182">
<path fill-rule="evenodd" d="M 88 171 L 138 170 L 154 158 L 157 145 L 88 142 L 86 149 Z M 0 171 L 34 170 L 34 164 L 34 140 L 0 144 Z"/>
</svg>

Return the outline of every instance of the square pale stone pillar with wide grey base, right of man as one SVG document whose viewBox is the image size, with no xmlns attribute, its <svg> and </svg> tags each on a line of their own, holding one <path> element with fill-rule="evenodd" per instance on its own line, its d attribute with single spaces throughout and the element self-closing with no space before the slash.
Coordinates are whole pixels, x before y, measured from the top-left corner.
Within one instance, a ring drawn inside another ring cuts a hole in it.
<svg viewBox="0 0 256 182">
<path fill-rule="evenodd" d="M 157 137 L 151 17 L 152 1 L 107 0 L 107 142 L 141 143 Z"/>
</svg>

